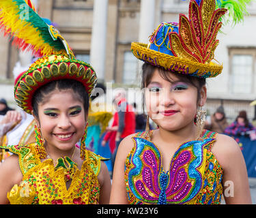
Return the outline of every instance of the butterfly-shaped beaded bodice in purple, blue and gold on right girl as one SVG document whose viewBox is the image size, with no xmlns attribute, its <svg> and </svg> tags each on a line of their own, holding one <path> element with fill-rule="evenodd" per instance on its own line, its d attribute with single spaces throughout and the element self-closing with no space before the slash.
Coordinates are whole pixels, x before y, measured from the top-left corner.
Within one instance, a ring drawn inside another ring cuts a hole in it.
<svg viewBox="0 0 256 218">
<path fill-rule="evenodd" d="M 185 142 L 173 155 L 169 171 L 164 172 L 157 146 L 141 136 L 140 133 L 133 137 L 134 147 L 126 159 L 125 182 L 130 204 L 221 202 L 223 170 L 210 151 L 215 138 Z"/>
</svg>

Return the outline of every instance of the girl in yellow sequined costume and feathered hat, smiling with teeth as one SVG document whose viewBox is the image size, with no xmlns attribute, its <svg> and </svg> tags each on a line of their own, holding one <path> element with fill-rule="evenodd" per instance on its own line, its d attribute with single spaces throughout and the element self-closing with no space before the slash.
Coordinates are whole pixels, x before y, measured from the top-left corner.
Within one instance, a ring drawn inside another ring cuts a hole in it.
<svg viewBox="0 0 256 218">
<path fill-rule="evenodd" d="M 28 19 L 20 11 L 25 2 L 31 6 Z M 75 59 L 30 1 L 0 1 L 0 22 L 20 48 L 45 55 L 14 87 L 18 106 L 35 118 L 36 143 L 1 147 L 15 155 L 0 166 L 0 204 L 108 204 L 111 181 L 104 158 L 85 149 L 94 69 Z"/>
</svg>

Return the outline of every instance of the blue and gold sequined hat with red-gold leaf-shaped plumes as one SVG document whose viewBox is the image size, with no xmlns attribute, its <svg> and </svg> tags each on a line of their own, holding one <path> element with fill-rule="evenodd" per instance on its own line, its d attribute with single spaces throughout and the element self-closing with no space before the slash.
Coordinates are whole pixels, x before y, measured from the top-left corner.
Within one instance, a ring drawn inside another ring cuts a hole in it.
<svg viewBox="0 0 256 218">
<path fill-rule="evenodd" d="M 226 11 L 216 9 L 215 0 L 190 0 L 188 18 L 180 14 L 179 24 L 162 22 L 150 36 L 149 44 L 132 42 L 132 53 L 141 61 L 171 72 L 199 78 L 218 76 L 223 65 L 212 60 L 222 25 L 219 20 Z M 237 22 L 241 20 L 236 18 Z"/>
</svg>

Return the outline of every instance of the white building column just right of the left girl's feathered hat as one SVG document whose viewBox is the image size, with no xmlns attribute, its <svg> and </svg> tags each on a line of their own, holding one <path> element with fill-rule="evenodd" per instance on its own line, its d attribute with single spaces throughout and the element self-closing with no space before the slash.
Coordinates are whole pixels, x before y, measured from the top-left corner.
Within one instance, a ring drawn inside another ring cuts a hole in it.
<svg viewBox="0 0 256 218">
<path fill-rule="evenodd" d="M 90 64 L 96 71 L 99 82 L 104 80 L 107 12 L 108 0 L 94 0 Z"/>
</svg>

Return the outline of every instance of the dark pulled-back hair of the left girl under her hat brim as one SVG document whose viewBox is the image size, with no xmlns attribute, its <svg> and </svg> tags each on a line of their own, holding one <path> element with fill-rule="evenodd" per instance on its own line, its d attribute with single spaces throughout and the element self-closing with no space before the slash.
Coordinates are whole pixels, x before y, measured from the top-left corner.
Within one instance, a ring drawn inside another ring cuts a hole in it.
<svg viewBox="0 0 256 218">
<path fill-rule="evenodd" d="M 35 91 L 32 97 L 32 108 L 33 108 L 33 114 L 38 118 L 38 104 L 42 104 L 46 102 L 46 95 L 54 91 L 55 89 L 61 91 L 61 90 L 67 90 L 72 89 L 74 91 L 74 94 L 76 97 L 78 97 L 82 102 L 85 109 L 85 114 L 87 114 L 89 110 L 89 95 L 87 91 L 85 90 L 85 87 L 83 84 L 76 80 L 54 80 L 52 82 L 48 82 L 47 84 L 44 84 L 42 87 L 40 87 L 38 90 Z"/>
</svg>

